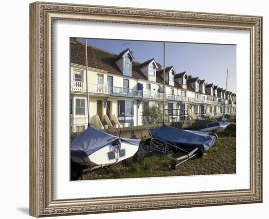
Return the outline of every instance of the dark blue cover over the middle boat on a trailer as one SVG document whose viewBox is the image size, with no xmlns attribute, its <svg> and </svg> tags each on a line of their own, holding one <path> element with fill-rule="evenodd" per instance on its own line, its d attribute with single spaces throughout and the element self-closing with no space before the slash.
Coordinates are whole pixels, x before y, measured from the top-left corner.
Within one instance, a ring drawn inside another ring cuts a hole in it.
<svg viewBox="0 0 269 219">
<path fill-rule="evenodd" d="M 180 148 L 186 150 L 193 150 L 198 147 L 205 151 L 210 148 L 216 140 L 215 136 L 208 135 L 207 132 L 183 130 L 168 125 L 149 129 L 149 133 L 152 138 L 176 143 Z"/>
</svg>

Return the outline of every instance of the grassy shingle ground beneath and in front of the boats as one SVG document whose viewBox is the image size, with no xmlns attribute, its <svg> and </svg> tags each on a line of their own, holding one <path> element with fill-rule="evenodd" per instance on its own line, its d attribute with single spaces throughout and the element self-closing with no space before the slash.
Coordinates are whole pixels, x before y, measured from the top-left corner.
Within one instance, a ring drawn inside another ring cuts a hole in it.
<svg viewBox="0 0 269 219">
<path fill-rule="evenodd" d="M 171 157 L 156 154 L 139 162 L 128 159 L 126 163 L 121 162 L 85 173 L 82 180 L 235 174 L 235 144 L 236 139 L 233 137 L 220 137 L 201 159 L 190 159 L 179 165 L 175 170 L 171 168 Z"/>
</svg>

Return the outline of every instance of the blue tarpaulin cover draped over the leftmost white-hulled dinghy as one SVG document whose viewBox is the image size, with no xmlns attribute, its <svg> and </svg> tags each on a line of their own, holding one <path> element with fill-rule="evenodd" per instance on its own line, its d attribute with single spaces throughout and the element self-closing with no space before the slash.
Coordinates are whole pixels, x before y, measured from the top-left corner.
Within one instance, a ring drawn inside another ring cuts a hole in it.
<svg viewBox="0 0 269 219">
<path fill-rule="evenodd" d="M 93 152 L 105 147 L 117 139 L 127 141 L 128 143 L 137 146 L 139 146 L 140 143 L 140 139 L 119 138 L 89 126 L 84 132 L 71 140 L 71 156 L 76 158 L 88 157 Z"/>
</svg>

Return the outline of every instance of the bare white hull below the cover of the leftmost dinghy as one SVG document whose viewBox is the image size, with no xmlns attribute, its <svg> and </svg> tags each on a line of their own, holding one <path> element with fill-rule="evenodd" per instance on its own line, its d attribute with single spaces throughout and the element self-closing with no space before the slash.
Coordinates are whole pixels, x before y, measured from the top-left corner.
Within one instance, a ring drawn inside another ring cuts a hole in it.
<svg viewBox="0 0 269 219">
<path fill-rule="evenodd" d="M 121 141 L 120 152 L 114 156 L 114 148 L 111 144 L 108 144 L 86 158 L 82 159 L 71 156 L 71 160 L 84 166 L 112 164 L 133 157 L 138 150 L 138 147 L 139 146 L 130 144 L 126 141 Z"/>
</svg>

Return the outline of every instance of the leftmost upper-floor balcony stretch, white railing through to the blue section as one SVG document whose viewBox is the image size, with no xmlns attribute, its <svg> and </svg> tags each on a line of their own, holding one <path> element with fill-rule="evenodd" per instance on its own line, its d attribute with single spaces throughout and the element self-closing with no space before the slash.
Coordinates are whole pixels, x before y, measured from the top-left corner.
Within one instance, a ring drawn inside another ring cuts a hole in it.
<svg viewBox="0 0 269 219">
<path fill-rule="evenodd" d="M 86 82 L 71 81 L 71 91 L 86 92 Z M 142 98 L 142 91 L 125 87 L 107 86 L 88 83 L 90 94 L 107 94 L 110 96 Z"/>
</svg>

